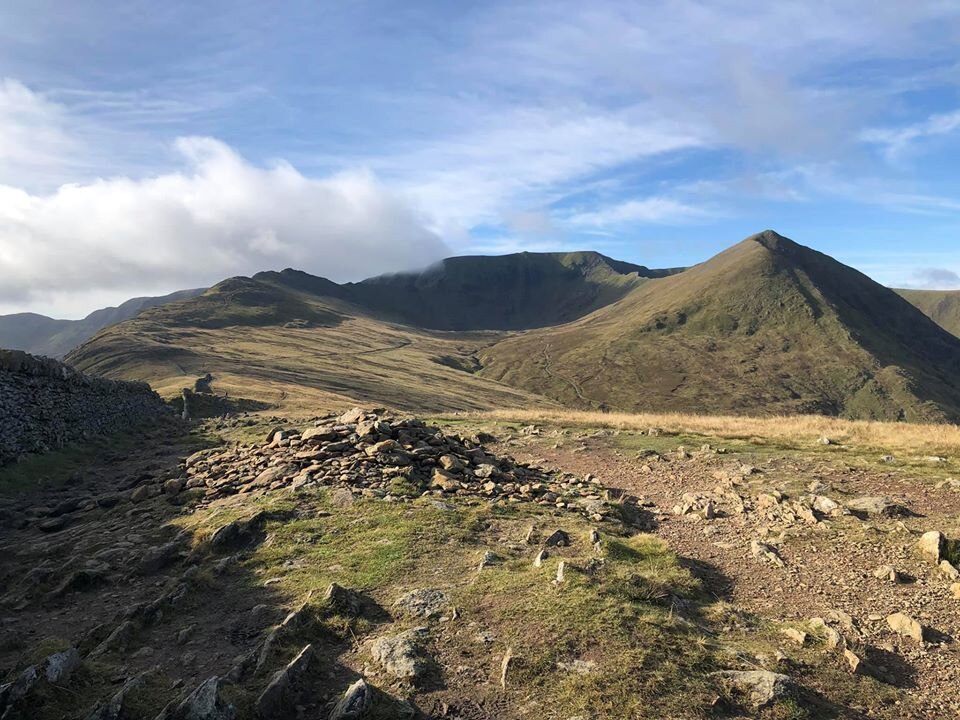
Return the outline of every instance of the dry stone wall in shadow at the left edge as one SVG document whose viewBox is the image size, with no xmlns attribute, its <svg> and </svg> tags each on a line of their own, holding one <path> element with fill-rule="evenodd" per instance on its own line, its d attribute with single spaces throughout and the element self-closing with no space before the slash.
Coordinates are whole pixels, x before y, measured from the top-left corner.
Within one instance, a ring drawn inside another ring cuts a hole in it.
<svg viewBox="0 0 960 720">
<path fill-rule="evenodd" d="M 56 360 L 0 350 L 0 466 L 170 414 L 146 383 L 90 377 Z"/>
</svg>

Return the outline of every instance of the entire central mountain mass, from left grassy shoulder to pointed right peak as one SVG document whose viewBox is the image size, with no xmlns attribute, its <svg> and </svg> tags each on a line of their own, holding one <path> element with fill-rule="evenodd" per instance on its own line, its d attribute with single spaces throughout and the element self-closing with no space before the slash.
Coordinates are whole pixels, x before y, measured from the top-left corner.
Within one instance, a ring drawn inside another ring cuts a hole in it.
<svg viewBox="0 0 960 720">
<path fill-rule="evenodd" d="M 168 395 L 212 372 L 258 400 L 309 387 L 409 409 L 960 418 L 960 339 L 773 231 L 657 277 L 599 253 L 505 257 L 348 285 L 293 270 L 231 278 L 104 330 L 68 359 Z M 506 280 L 489 281 L 483 271 L 504 262 Z"/>
</svg>

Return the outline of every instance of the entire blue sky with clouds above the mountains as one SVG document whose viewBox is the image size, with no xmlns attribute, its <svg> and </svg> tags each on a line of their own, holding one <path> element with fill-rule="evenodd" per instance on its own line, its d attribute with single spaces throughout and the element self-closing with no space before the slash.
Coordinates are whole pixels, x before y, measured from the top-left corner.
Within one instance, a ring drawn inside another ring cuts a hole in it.
<svg viewBox="0 0 960 720">
<path fill-rule="evenodd" d="M 0 5 L 0 313 L 765 228 L 960 288 L 958 168 L 960 0 Z"/>
</svg>

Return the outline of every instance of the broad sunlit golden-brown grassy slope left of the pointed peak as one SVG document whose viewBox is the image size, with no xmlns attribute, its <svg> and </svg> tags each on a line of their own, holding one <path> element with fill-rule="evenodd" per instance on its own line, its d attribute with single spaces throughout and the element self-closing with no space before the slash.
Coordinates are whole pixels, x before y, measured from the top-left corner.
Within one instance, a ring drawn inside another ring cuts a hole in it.
<svg viewBox="0 0 960 720">
<path fill-rule="evenodd" d="M 231 278 L 103 330 L 67 361 L 145 380 L 165 397 L 209 372 L 215 393 L 287 414 L 358 402 L 427 411 L 549 403 L 464 372 L 499 337 L 391 324 L 336 298 Z"/>
</svg>

